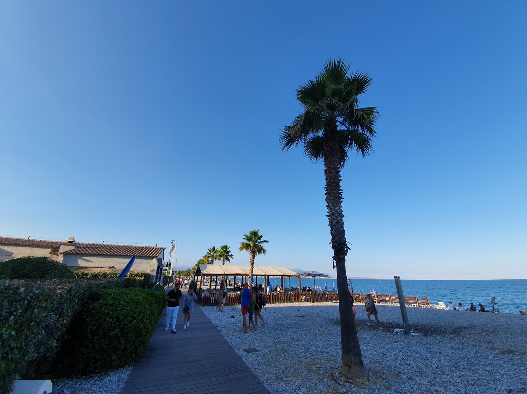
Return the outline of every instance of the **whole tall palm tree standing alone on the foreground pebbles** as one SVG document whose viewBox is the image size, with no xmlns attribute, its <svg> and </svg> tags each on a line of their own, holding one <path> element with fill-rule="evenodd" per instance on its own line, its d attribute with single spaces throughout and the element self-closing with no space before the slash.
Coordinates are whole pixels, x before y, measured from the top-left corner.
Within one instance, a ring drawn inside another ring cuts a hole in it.
<svg viewBox="0 0 527 394">
<path fill-rule="evenodd" d="M 331 247 L 337 266 L 340 372 L 346 379 L 360 379 L 365 372 L 348 293 L 348 243 L 341 205 L 340 170 L 346 163 L 348 152 L 356 151 L 364 156 L 372 151 L 378 112 L 375 107 L 358 107 L 359 94 L 366 92 L 373 78 L 365 73 L 349 75 L 348 72 L 349 65 L 342 60 L 329 60 L 314 80 L 297 89 L 296 99 L 303 112 L 282 130 L 280 144 L 282 150 L 301 145 L 309 159 L 324 162 Z"/>
</svg>

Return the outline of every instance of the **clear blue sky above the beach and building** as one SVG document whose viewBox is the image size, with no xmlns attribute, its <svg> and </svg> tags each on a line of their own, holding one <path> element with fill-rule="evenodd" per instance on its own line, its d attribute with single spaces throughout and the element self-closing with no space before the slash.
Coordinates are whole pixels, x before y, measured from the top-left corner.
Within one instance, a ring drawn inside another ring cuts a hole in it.
<svg viewBox="0 0 527 394">
<path fill-rule="evenodd" d="M 259 228 L 331 267 L 324 168 L 282 127 L 341 57 L 374 83 L 342 175 L 349 277 L 527 278 L 527 3 L 0 2 L 0 234 L 178 244 Z M 168 258 L 168 253 L 166 255 Z"/>
</svg>

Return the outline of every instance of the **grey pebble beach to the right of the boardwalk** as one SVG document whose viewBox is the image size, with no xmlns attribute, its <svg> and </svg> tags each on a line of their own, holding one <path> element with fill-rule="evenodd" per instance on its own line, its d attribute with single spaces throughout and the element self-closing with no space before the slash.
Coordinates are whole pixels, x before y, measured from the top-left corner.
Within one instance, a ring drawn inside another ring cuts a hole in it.
<svg viewBox="0 0 527 394">
<path fill-rule="evenodd" d="M 274 394 L 527 391 L 526 316 L 407 308 L 413 334 L 405 335 L 398 307 L 377 306 L 382 331 L 356 307 L 368 378 L 353 383 L 338 371 L 336 303 L 268 305 L 265 326 L 249 333 L 241 331 L 239 306 L 202 310 Z"/>
</svg>

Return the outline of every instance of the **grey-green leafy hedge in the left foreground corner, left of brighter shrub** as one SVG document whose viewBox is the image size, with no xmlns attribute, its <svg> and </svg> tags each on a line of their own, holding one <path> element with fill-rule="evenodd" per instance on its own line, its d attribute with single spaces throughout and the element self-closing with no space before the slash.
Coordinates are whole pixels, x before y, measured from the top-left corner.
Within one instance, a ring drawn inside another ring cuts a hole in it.
<svg viewBox="0 0 527 394">
<path fill-rule="evenodd" d="M 46 369 L 90 291 L 80 281 L 0 281 L 0 394 Z"/>
</svg>

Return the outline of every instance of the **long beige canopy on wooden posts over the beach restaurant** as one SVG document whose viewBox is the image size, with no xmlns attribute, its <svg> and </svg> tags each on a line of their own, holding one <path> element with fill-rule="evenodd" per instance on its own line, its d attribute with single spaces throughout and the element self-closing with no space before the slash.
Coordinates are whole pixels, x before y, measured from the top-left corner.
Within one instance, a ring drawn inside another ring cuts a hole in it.
<svg viewBox="0 0 527 394">
<path fill-rule="evenodd" d="M 242 282 L 247 282 L 249 278 L 249 265 L 213 265 L 213 264 L 199 264 L 196 272 L 194 273 L 194 280 L 199 282 L 199 287 L 204 283 L 204 279 L 209 277 L 221 278 L 221 281 L 225 283 L 227 278 L 233 278 L 236 283 L 236 278 L 241 279 Z M 298 278 L 298 286 L 300 287 L 300 274 L 294 271 L 288 270 L 284 267 L 267 267 L 264 265 L 255 265 L 252 270 L 252 277 L 255 279 L 253 284 L 258 284 L 258 278 L 264 278 L 262 281 L 264 284 L 267 283 L 267 278 L 282 278 L 282 287 L 285 287 L 286 278 Z M 212 280 L 209 280 L 209 289 L 211 287 Z M 265 288 L 265 286 L 264 286 Z"/>
</svg>

